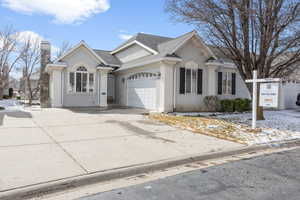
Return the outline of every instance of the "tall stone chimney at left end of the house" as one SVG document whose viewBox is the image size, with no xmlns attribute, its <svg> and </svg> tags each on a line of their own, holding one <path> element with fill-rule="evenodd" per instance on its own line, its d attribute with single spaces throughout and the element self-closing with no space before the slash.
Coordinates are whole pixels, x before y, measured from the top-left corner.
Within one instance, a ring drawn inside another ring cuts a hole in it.
<svg viewBox="0 0 300 200">
<path fill-rule="evenodd" d="M 49 74 L 46 66 L 51 62 L 51 44 L 48 41 L 41 42 L 41 70 L 40 70 L 40 103 L 42 108 L 48 108 L 49 102 Z"/>
</svg>

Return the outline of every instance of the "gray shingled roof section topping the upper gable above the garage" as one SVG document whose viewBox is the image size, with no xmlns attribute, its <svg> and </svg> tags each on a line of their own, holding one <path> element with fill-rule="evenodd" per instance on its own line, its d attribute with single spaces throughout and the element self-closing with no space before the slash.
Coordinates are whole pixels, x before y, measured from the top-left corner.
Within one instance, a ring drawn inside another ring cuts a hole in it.
<svg viewBox="0 0 300 200">
<path fill-rule="evenodd" d="M 126 46 L 127 44 L 133 42 L 133 41 L 138 41 L 144 45 L 146 45 L 147 47 L 158 51 L 158 45 L 163 43 L 163 42 L 167 42 L 170 40 L 173 40 L 173 38 L 169 38 L 169 37 L 163 37 L 163 36 L 158 36 L 158 35 L 151 35 L 151 34 L 145 34 L 145 33 L 138 33 L 137 35 L 133 36 L 132 38 L 130 38 L 129 40 L 127 40 L 126 42 L 124 42 L 123 44 L 121 44 L 120 46 L 118 46 L 117 48 L 115 48 L 115 50 L 122 48 L 123 46 Z M 114 51 L 115 51 L 114 50 Z"/>
</svg>

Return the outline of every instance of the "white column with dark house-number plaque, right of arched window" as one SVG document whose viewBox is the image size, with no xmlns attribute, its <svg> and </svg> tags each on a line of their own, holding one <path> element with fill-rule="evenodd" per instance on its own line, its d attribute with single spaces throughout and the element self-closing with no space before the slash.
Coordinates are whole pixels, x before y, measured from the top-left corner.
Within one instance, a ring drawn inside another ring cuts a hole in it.
<svg viewBox="0 0 300 200">
<path fill-rule="evenodd" d="M 112 68 L 108 67 L 101 67 L 98 69 L 100 74 L 100 86 L 99 86 L 99 100 L 100 100 L 100 107 L 107 107 L 107 79 L 108 73 L 112 70 Z"/>
</svg>

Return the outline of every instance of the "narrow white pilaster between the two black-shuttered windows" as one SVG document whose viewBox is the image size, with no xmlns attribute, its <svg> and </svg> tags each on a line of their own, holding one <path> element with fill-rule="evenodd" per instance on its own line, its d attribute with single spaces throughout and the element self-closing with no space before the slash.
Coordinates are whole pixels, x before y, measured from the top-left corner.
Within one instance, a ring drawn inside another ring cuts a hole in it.
<svg viewBox="0 0 300 200">
<path fill-rule="evenodd" d="M 217 95 L 217 73 L 218 65 L 216 63 L 206 63 L 208 66 L 208 92 L 207 95 L 215 96 Z"/>
</svg>

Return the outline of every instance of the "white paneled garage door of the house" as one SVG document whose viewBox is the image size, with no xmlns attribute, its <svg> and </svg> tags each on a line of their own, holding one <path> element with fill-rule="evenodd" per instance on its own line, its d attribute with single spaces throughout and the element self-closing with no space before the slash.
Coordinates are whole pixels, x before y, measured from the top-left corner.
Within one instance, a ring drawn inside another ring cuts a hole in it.
<svg viewBox="0 0 300 200">
<path fill-rule="evenodd" d="M 128 106 L 147 110 L 157 109 L 158 77 L 158 74 L 153 73 L 138 73 L 130 76 L 127 80 Z"/>
</svg>

